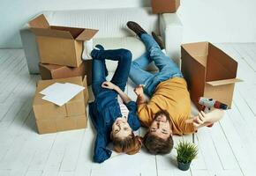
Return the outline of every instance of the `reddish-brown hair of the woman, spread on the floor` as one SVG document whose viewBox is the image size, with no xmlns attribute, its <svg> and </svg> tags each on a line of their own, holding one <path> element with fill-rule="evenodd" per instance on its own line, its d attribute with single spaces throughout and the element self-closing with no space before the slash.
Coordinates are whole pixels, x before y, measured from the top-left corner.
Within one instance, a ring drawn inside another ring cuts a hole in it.
<svg viewBox="0 0 256 176">
<path fill-rule="evenodd" d="M 130 136 L 120 138 L 117 136 L 111 136 L 113 143 L 113 150 L 117 153 L 124 152 L 128 155 L 133 155 L 139 152 L 141 149 L 141 142 L 139 136 L 134 136 L 132 133 Z"/>
</svg>

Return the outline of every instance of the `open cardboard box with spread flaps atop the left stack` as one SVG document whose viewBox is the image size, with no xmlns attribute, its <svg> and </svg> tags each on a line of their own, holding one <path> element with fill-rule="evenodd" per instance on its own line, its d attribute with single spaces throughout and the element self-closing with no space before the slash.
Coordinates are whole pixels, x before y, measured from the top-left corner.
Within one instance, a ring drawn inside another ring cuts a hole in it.
<svg viewBox="0 0 256 176">
<path fill-rule="evenodd" d="M 44 15 L 29 22 L 36 35 L 41 63 L 79 67 L 82 63 L 83 41 L 90 40 L 98 30 L 65 26 L 49 26 Z"/>
</svg>

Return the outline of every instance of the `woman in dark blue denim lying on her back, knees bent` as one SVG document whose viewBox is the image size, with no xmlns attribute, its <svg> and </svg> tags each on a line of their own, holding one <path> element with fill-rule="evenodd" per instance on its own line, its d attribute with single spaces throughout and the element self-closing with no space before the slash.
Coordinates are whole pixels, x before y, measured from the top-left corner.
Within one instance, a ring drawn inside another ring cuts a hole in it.
<svg viewBox="0 0 256 176">
<path fill-rule="evenodd" d="M 91 56 L 95 99 L 89 104 L 89 113 L 97 131 L 94 162 L 102 163 L 114 155 L 107 149 L 110 141 L 113 142 L 113 150 L 118 153 L 132 155 L 140 150 L 139 136 L 134 136 L 132 132 L 140 127 L 140 122 L 136 115 L 136 103 L 124 93 L 131 68 L 131 52 L 126 49 L 104 50 L 101 45 L 97 45 Z M 118 61 L 117 70 L 110 82 L 106 81 L 106 59 Z"/>
</svg>

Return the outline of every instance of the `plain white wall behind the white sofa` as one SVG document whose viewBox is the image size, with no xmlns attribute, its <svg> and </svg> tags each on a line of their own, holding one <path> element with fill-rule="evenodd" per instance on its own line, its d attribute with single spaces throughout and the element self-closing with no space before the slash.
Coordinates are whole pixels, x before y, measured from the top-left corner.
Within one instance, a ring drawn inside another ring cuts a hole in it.
<svg viewBox="0 0 256 176">
<path fill-rule="evenodd" d="M 255 0 L 181 0 L 184 42 L 256 42 Z M 149 6 L 150 0 L 0 0 L 0 48 L 20 48 L 19 28 L 40 11 Z"/>
</svg>

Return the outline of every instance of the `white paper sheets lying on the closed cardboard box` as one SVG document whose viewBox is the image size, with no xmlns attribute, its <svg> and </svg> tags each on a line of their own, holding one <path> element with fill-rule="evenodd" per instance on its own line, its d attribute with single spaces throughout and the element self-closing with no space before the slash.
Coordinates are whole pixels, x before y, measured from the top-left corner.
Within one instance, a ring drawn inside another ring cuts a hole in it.
<svg viewBox="0 0 256 176">
<path fill-rule="evenodd" d="M 50 101 L 57 106 L 63 106 L 66 102 L 75 97 L 79 92 L 83 91 L 85 87 L 78 84 L 71 83 L 55 83 L 49 85 L 40 93 L 45 95 L 41 99 Z"/>
</svg>

